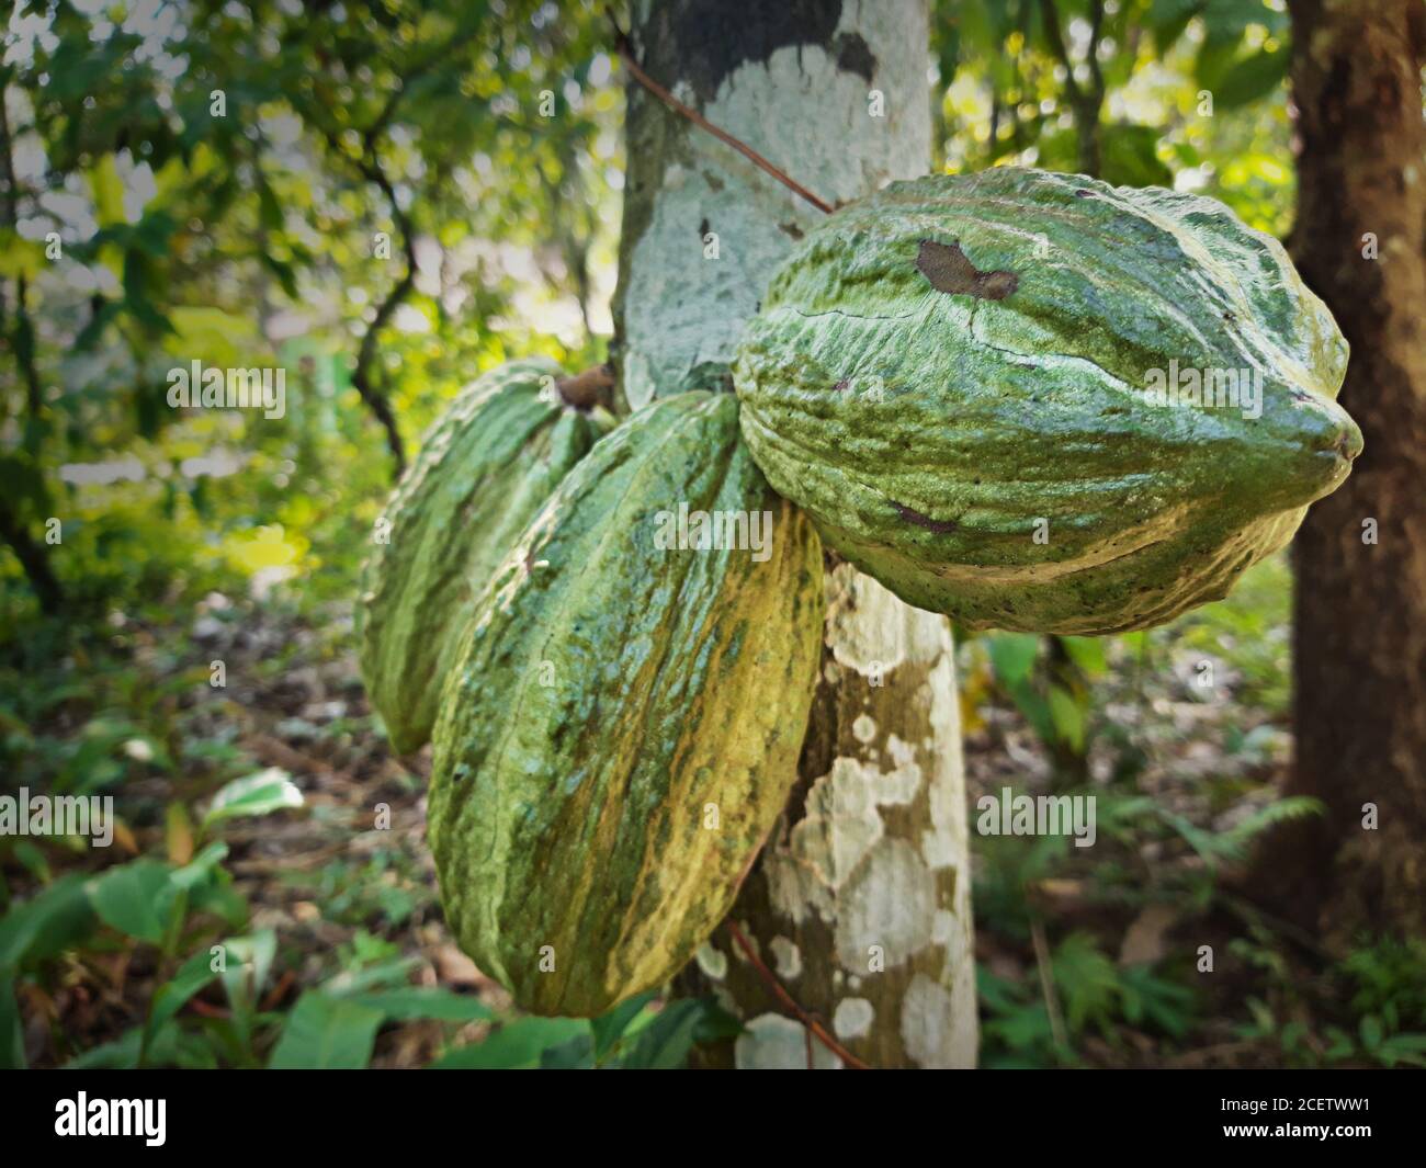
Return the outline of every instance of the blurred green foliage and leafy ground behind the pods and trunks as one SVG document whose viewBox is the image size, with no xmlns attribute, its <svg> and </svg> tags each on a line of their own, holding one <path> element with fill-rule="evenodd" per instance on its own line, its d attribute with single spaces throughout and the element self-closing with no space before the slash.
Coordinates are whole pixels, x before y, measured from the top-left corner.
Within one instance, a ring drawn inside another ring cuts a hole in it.
<svg viewBox="0 0 1426 1168">
<path fill-rule="evenodd" d="M 118 826 L 104 851 L 0 839 L 0 1065 L 682 1065 L 727 1037 L 703 1001 L 509 1013 L 443 933 L 421 779 L 349 645 L 428 422 L 511 357 L 605 357 L 602 11 L 3 11 L 0 770 L 113 794 Z M 1289 41 L 1281 0 L 934 0 L 937 165 L 1202 191 L 1283 237 Z M 285 416 L 171 409 L 194 359 L 281 365 Z M 1313 811 L 1273 794 L 1289 589 L 1276 559 L 1151 633 L 963 639 L 973 800 L 1101 804 L 1092 859 L 973 839 L 988 1065 L 1426 1061 L 1419 946 L 1329 960 L 1228 878 Z M 1218 978 L 1174 940 L 1191 920 Z"/>
</svg>

